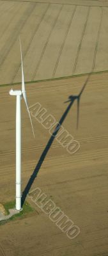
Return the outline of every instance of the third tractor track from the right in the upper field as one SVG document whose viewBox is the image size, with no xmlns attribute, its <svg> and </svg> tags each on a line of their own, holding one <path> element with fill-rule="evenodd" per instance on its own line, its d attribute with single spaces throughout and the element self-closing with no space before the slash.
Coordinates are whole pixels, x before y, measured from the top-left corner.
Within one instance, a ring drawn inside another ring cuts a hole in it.
<svg viewBox="0 0 108 256">
<path fill-rule="evenodd" d="M 69 32 L 69 30 L 70 30 L 70 26 L 71 26 L 71 24 L 72 24 L 72 20 L 73 20 L 73 17 L 74 17 L 74 14 L 75 14 L 76 9 L 77 9 L 77 6 L 75 6 L 75 8 L 74 8 L 73 13 L 72 13 L 72 17 L 71 17 L 70 22 L 69 22 L 69 24 L 68 24 L 68 28 L 67 28 L 67 30 L 66 30 L 66 35 L 65 35 L 65 38 L 64 38 L 64 40 L 63 40 L 63 43 L 61 44 L 61 49 L 60 49 L 59 54 L 58 54 L 58 60 L 56 61 L 56 65 L 55 65 L 55 67 L 54 67 L 54 71 L 53 71 L 53 73 L 52 73 L 52 77 L 54 77 L 55 74 L 56 74 L 56 70 L 57 70 L 57 68 L 58 68 L 59 60 L 60 60 L 60 58 L 61 58 L 61 53 L 62 53 L 62 51 L 63 51 L 63 47 L 64 47 L 64 45 L 65 45 L 66 38 L 67 38 L 67 36 L 68 36 L 68 32 Z"/>
</svg>

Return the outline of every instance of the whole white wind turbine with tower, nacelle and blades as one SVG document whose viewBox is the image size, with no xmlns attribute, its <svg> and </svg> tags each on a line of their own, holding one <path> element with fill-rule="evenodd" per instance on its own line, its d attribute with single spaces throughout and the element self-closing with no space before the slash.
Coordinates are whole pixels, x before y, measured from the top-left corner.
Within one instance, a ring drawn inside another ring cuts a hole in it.
<svg viewBox="0 0 108 256">
<path fill-rule="evenodd" d="M 20 41 L 20 39 L 19 39 Z M 22 63 L 22 49 L 20 44 L 20 56 L 21 56 L 21 68 L 22 68 L 22 90 L 10 90 L 10 95 L 17 97 L 16 103 L 16 210 L 21 210 L 21 115 L 20 115 L 20 100 L 22 97 L 26 103 L 26 108 L 29 113 L 29 108 L 27 106 L 26 99 L 26 90 L 24 84 L 24 72 L 23 72 L 23 63 Z M 29 118 L 31 121 L 31 115 L 29 113 Z M 33 124 L 31 121 L 31 127 L 33 130 Z M 33 130 L 33 136 L 35 133 Z"/>
</svg>

